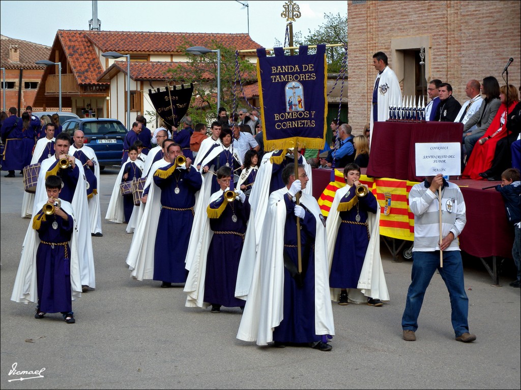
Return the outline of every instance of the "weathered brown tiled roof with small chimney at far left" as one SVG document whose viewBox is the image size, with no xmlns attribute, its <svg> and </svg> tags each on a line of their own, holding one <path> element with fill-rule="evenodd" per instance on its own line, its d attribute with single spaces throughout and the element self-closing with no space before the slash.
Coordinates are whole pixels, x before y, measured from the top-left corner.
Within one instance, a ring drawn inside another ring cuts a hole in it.
<svg viewBox="0 0 521 390">
<path fill-rule="evenodd" d="M 46 60 L 51 54 L 49 46 L 17 40 L 5 35 L 0 37 L 0 43 L 0 64 L 6 69 L 44 69 L 45 65 L 36 65 L 34 62 Z M 18 46 L 20 61 L 13 62 L 9 59 L 10 45 Z"/>
</svg>

